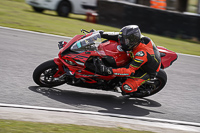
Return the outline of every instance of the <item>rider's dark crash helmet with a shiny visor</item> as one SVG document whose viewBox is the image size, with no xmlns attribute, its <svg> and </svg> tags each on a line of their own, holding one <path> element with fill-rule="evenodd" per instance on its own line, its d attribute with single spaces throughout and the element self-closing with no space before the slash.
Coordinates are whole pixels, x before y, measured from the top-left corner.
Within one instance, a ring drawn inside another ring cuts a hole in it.
<svg viewBox="0 0 200 133">
<path fill-rule="evenodd" d="M 138 46 L 141 41 L 141 32 L 137 25 L 128 25 L 119 32 L 119 43 L 124 51 L 130 51 Z"/>
</svg>

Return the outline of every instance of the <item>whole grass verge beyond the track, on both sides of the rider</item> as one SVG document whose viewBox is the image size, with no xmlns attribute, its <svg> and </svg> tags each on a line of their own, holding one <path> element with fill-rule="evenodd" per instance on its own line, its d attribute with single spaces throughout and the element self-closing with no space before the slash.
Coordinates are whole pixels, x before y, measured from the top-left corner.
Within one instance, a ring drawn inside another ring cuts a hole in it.
<svg viewBox="0 0 200 133">
<path fill-rule="evenodd" d="M 0 1 L 0 26 L 44 32 L 73 37 L 82 34 L 81 29 L 119 31 L 119 28 L 85 22 L 84 15 L 70 14 L 69 18 L 57 16 L 55 11 L 36 13 L 24 0 Z M 200 44 L 197 41 L 172 39 L 143 33 L 150 37 L 156 45 L 164 46 L 179 53 L 200 55 Z"/>
</svg>

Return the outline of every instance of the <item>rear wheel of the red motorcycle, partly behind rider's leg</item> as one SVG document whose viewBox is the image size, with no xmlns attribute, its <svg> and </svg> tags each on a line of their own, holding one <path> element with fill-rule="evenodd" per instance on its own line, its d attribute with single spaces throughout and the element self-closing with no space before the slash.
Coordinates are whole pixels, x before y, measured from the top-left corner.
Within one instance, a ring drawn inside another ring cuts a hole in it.
<svg viewBox="0 0 200 133">
<path fill-rule="evenodd" d="M 136 92 L 131 94 L 131 97 L 147 97 L 154 95 L 161 91 L 165 84 L 167 83 L 167 74 L 163 69 L 160 69 L 155 79 L 147 81 L 141 85 Z"/>
</svg>

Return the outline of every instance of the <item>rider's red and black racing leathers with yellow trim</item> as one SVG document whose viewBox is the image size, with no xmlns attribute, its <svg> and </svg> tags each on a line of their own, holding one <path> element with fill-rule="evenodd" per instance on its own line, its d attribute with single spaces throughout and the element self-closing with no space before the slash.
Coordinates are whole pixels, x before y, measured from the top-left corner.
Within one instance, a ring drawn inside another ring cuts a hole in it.
<svg viewBox="0 0 200 133">
<path fill-rule="evenodd" d="M 128 67 L 112 69 L 117 77 L 129 77 L 123 84 L 126 93 L 137 91 L 151 76 L 160 70 L 161 58 L 158 49 L 148 37 L 142 37 L 140 44 L 129 51 L 132 61 Z"/>
</svg>

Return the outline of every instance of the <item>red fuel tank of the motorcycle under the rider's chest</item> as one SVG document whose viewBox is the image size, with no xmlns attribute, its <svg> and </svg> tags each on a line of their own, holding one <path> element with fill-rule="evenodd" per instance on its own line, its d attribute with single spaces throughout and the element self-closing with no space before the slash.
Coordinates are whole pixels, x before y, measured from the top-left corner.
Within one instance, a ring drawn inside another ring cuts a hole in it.
<svg viewBox="0 0 200 133">
<path fill-rule="evenodd" d="M 112 56 L 115 59 L 117 67 L 125 66 L 131 60 L 130 56 L 121 49 L 121 45 L 116 41 L 109 40 L 101 44 L 100 48 L 104 50 L 107 56 Z"/>
</svg>

